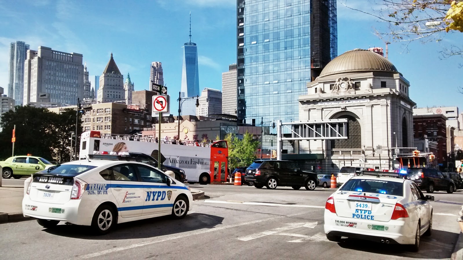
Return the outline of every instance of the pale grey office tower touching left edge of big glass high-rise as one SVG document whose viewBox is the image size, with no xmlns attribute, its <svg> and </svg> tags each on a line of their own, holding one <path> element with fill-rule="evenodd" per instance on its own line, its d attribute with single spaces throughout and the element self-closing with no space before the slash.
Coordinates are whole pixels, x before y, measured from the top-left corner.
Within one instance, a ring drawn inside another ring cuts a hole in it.
<svg viewBox="0 0 463 260">
<path fill-rule="evenodd" d="M 236 63 L 222 73 L 222 113 L 236 115 L 238 85 L 236 83 Z"/>
</svg>

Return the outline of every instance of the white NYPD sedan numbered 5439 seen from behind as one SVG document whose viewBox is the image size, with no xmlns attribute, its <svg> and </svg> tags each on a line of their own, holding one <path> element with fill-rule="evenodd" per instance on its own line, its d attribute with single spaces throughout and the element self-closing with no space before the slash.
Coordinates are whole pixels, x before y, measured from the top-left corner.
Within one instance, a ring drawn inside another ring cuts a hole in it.
<svg viewBox="0 0 463 260">
<path fill-rule="evenodd" d="M 432 232 L 429 201 L 433 200 L 399 173 L 364 171 L 347 180 L 326 201 L 326 238 L 408 244 L 412 251 L 418 251 L 421 235 Z"/>
</svg>

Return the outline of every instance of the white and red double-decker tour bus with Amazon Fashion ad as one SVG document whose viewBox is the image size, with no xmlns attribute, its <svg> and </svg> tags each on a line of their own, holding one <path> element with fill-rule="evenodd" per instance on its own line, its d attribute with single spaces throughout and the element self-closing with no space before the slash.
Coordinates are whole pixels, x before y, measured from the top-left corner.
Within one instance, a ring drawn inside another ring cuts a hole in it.
<svg viewBox="0 0 463 260">
<path fill-rule="evenodd" d="M 182 168 L 188 183 L 202 185 L 212 181 L 226 181 L 228 176 L 227 141 L 212 143 L 183 142 L 182 145 L 167 137 L 161 139 L 161 163 Z M 81 135 L 80 159 L 85 155 L 117 155 L 120 152 L 138 152 L 158 159 L 157 138 L 103 134 L 86 131 Z"/>
</svg>

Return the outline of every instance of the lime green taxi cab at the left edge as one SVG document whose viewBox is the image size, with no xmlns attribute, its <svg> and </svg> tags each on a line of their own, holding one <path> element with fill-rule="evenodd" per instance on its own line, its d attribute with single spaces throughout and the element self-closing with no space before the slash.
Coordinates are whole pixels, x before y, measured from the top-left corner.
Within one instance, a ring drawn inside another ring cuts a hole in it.
<svg viewBox="0 0 463 260">
<path fill-rule="evenodd" d="M 0 161 L 2 177 L 5 179 L 30 176 L 32 173 L 37 173 L 53 165 L 50 161 L 36 156 L 13 156 L 5 161 Z"/>
</svg>

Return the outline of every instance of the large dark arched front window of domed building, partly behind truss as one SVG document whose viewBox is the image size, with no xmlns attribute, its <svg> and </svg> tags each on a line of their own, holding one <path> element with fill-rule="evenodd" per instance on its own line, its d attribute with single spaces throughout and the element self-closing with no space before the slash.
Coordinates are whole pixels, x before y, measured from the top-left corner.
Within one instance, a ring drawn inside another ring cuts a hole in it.
<svg viewBox="0 0 463 260">
<path fill-rule="evenodd" d="M 348 139 L 332 140 L 332 149 L 362 149 L 362 130 L 360 123 L 353 116 L 340 116 L 347 119 Z"/>
</svg>

